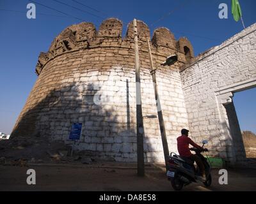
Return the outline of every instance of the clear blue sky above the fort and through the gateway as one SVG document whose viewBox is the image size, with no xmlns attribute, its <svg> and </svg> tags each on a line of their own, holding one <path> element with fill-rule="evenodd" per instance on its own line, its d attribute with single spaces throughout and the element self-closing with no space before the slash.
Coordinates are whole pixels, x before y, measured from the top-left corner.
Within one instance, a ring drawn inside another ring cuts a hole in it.
<svg viewBox="0 0 256 204">
<path fill-rule="evenodd" d="M 168 27 L 177 40 L 180 36 L 188 37 L 195 55 L 219 45 L 243 29 L 241 22 L 235 22 L 232 18 L 230 0 L 77 0 L 90 8 L 72 0 L 58 0 L 85 10 L 86 13 L 53 0 L 35 1 L 84 21 L 93 22 L 97 27 L 105 18 L 119 18 L 124 22 L 123 34 L 126 32 L 127 22 L 133 18 L 143 20 L 150 27 L 151 33 L 157 27 Z M 47 51 L 52 40 L 65 27 L 81 22 L 39 4 L 36 4 L 36 19 L 29 20 L 26 18 L 26 5 L 29 2 L 0 0 L 0 131 L 4 133 L 12 131 L 35 83 L 38 54 Z M 256 22 L 256 1 L 239 2 L 244 24 L 246 27 L 252 25 Z M 228 19 L 218 18 L 220 3 L 228 4 Z M 256 133 L 255 89 L 236 93 L 234 101 L 241 129 Z"/>
</svg>

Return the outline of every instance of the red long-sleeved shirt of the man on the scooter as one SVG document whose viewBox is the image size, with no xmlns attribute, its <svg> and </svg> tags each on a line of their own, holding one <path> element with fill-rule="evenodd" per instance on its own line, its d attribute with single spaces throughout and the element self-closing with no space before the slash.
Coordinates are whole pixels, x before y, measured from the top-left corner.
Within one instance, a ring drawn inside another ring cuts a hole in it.
<svg viewBox="0 0 256 204">
<path fill-rule="evenodd" d="M 192 153 L 189 150 L 189 145 L 192 145 L 196 149 L 202 149 L 199 145 L 196 145 L 188 136 L 182 135 L 177 138 L 177 146 L 180 156 L 190 157 Z"/>
</svg>

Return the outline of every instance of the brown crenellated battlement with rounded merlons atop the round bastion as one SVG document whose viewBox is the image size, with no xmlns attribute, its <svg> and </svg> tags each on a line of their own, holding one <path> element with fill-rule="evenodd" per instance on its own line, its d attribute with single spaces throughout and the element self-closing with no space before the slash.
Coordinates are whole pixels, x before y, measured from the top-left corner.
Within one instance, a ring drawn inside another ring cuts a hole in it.
<svg viewBox="0 0 256 204">
<path fill-rule="evenodd" d="M 141 20 L 137 20 L 138 41 L 140 50 L 147 52 L 147 40 L 150 39 L 150 29 Z M 58 55 L 78 50 L 97 47 L 131 48 L 134 46 L 133 21 L 127 26 L 127 32 L 122 38 L 123 24 L 116 18 L 108 18 L 100 24 L 99 31 L 90 22 L 70 25 L 64 29 L 51 43 L 48 52 L 41 52 L 36 64 L 36 74 L 39 75 L 47 61 Z M 152 36 L 152 52 L 160 55 L 176 53 L 179 61 L 186 63 L 193 58 L 193 47 L 187 38 L 175 40 L 173 33 L 166 27 L 157 28 Z"/>
</svg>

